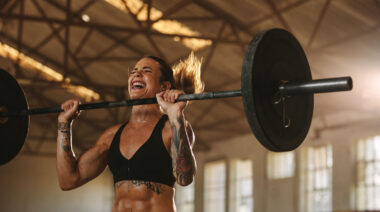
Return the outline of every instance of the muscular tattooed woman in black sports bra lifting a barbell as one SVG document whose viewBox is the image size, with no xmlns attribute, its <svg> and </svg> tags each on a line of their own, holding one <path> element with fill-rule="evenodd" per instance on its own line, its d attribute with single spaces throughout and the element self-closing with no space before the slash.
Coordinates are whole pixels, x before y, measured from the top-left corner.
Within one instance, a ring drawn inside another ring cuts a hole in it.
<svg viewBox="0 0 380 212">
<path fill-rule="evenodd" d="M 128 122 L 107 129 L 78 159 L 72 149 L 71 124 L 79 101 L 62 104 L 57 173 L 63 190 L 92 180 L 108 164 L 115 182 L 114 212 L 175 211 L 174 182 L 186 186 L 196 171 L 194 134 L 184 116 L 187 103 L 175 100 L 183 90 L 203 90 L 200 61 L 193 54 L 175 70 L 173 74 L 169 65 L 154 56 L 139 60 L 128 79 L 129 96 L 156 96 L 158 104 L 133 106 Z"/>
</svg>

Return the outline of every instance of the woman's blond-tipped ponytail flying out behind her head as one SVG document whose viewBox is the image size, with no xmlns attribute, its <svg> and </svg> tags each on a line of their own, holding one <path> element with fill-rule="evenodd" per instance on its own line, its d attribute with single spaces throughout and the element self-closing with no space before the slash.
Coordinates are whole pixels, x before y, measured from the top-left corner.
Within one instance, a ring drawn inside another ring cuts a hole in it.
<svg viewBox="0 0 380 212">
<path fill-rule="evenodd" d="M 183 90 L 187 94 L 201 93 L 204 83 L 201 80 L 202 61 L 191 52 L 189 57 L 170 67 L 163 59 L 156 56 L 146 56 L 159 63 L 162 73 L 161 81 L 168 81 L 172 89 Z"/>
</svg>

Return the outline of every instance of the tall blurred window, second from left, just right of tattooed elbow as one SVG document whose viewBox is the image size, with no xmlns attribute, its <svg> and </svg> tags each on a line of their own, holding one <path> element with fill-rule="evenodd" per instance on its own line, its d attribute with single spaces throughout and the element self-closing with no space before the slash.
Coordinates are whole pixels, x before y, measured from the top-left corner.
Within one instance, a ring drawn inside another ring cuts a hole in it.
<svg viewBox="0 0 380 212">
<path fill-rule="evenodd" d="M 226 170 L 224 160 L 205 164 L 203 211 L 225 211 Z"/>
</svg>

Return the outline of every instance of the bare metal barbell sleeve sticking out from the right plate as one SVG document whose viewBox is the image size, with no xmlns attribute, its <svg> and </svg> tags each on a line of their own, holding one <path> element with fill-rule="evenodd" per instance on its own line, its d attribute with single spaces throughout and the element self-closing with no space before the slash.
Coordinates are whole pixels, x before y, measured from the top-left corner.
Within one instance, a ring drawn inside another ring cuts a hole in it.
<svg viewBox="0 0 380 212">
<path fill-rule="evenodd" d="M 352 89 L 352 79 L 351 77 L 339 77 L 307 82 L 286 82 L 279 85 L 278 89 L 288 95 L 348 91 Z"/>
</svg>

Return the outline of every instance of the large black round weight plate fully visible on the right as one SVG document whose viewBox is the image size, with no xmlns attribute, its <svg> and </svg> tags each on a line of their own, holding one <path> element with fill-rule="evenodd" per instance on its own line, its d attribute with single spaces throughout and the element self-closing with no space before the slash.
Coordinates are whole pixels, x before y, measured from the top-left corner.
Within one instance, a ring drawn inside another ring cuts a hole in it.
<svg viewBox="0 0 380 212">
<path fill-rule="evenodd" d="M 291 151 L 305 139 L 313 116 L 313 94 L 286 99 L 286 116 L 291 121 L 288 128 L 283 124 L 282 103 L 274 101 L 281 80 L 311 79 L 306 55 L 289 32 L 270 29 L 249 44 L 242 70 L 244 110 L 253 133 L 267 149 Z"/>
</svg>

